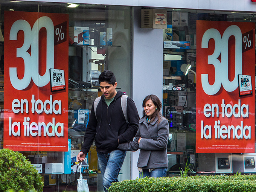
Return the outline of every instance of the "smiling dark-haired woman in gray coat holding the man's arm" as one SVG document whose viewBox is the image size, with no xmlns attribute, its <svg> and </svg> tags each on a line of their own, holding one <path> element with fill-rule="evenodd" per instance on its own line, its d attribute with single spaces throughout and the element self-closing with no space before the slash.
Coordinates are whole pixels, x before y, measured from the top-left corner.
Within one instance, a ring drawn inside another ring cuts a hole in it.
<svg viewBox="0 0 256 192">
<path fill-rule="evenodd" d="M 137 151 L 137 163 L 142 177 L 165 177 L 168 168 L 166 146 L 169 138 L 168 120 L 162 116 L 160 99 L 151 94 L 143 100 L 143 117 L 139 120 L 139 130 L 133 141 L 122 143 L 119 149 Z"/>
</svg>

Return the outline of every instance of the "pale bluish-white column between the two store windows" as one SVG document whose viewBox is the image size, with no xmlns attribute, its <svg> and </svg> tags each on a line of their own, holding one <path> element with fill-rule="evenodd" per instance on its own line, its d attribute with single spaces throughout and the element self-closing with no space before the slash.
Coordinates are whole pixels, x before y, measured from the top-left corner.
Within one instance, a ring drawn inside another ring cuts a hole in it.
<svg viewBox="0 0 256 192">
<path fill-rule="evenodd" d="M 163 29 L 142 29 L 141 8 L 134 8 L 133 23 L 133 75 L 132 94 L 140 117 L 142 101 L 149 94 L 163 99 Z M 137 160 L 139 151 L 132 153 L 131 178 L 139 177 Z"/>
</svg>

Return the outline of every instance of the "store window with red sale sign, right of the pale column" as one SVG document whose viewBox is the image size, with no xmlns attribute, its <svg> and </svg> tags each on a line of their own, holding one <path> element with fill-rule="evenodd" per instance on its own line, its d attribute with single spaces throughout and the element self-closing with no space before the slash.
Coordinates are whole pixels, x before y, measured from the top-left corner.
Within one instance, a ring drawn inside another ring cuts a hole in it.
<svg viewBox="0 0 256 192">
<path fill-rule="evenodd" d="M 206 32 L 206 26 L 212 30 Z M 168 10 L 163 32 L 163 114 L 170 128 L 169 176 L 186 166 L 194 171 L 192 175 L 255 172 L 254 30 L 253 13 Z M 212 55 L 221 66 L 210 60 Z M 241 77 L 252 84 L 246 96 L 239 87 Z M 207 92 L 217 81 L 222 85 Z M 203 87 L 207 82 L 209 89 Z M 242 104 L 248 107 L 243 112 Z"/>
</svg>

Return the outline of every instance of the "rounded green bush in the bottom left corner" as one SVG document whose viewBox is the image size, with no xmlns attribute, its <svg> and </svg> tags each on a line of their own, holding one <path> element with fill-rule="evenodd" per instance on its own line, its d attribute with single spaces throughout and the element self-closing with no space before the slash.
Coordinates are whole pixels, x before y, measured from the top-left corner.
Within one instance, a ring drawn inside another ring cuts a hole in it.
<svg viewBox="0 0 256 192">
<path fill-rule="evenodd" d="M 0 150 L 0 191 L 43 191 L 37 169 L 19 152 Z"/>
</svg>

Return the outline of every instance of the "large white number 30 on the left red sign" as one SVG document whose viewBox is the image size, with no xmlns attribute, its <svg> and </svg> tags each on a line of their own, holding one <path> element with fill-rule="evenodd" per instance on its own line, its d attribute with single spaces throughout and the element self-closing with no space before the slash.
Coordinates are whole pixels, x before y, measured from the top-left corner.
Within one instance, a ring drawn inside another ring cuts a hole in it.
<svg viewBox="0 0 256 192">
<path fill-rule="evenodd" d="M 41 28 L 46 28 L 46 73 L 41 76 L 38 71 L 38 34 Z M 9 76 L 12 86 L 17 90 L 23 90 L 30 84 L 31 78 L 35 85 L 44 87 L 50 82 L 49 69 L 54 68 L 54 26 L 49 17 L 40 17 L 35 21 L 31 30 L 30 24 L 26 20 L 17 20 L 12 24 L 10 30 L 10 40 L 16 41 L 18 31 L 24 32 L 23 46 L 17 48 L 17 58 L 24 61 L 24 76 L 19 79 L 17 76 L 17 67 L 10 67 Z M 27 50 L 31 46 L 31 56 Z"/>
</svg>

